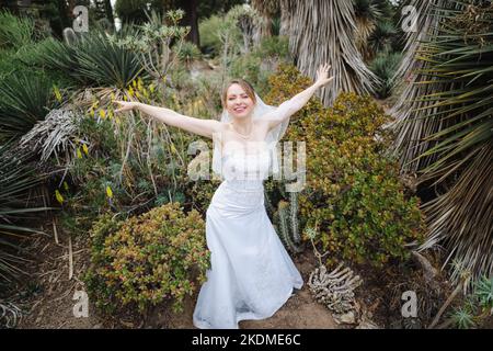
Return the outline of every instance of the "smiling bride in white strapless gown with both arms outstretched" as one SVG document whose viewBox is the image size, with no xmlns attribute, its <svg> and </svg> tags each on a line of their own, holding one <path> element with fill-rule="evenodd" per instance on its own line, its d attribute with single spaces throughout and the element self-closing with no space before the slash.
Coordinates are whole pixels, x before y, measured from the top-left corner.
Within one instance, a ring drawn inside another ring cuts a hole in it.
<svg viewBox="0 0 493 351">
<path fill-rule="evenodd" d="M 226 87 L 220 121 L 200 120 L 165 107 L 116 101 L 115 112 L 139 110 L 168 125 L 214 140 L 213 170 L 223 180 L 206 213 L 211 253 L 193 322 L 202 329 L 238 329 L 245 319 L 274 315 L 301 288 L 302 278 L 275 233 L 264 206 L 263 180 L 276 162 L 263 146 L 275 146 L 289 117 L 317 89 L 330 82 L 330 65 L 321 65 L 316 82 L 279 106 L 268 106 L 245 80 Z M 275 155 L 275 154 L 274 154 Z"/>
</svg>

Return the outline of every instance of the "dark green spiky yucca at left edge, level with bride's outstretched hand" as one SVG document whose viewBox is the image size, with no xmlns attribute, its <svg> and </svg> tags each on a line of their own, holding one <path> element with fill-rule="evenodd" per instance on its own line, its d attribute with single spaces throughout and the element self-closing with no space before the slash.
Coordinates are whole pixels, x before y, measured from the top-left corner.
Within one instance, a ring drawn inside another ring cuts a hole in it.
<svg viewBox="0 0 493 351">
<path fill-rule="evenodd" d="M 51 82 L 44 76 L 16 72 L 0 82 L 0 140 L 19 137 L 54 105 Z"/>
</svg>

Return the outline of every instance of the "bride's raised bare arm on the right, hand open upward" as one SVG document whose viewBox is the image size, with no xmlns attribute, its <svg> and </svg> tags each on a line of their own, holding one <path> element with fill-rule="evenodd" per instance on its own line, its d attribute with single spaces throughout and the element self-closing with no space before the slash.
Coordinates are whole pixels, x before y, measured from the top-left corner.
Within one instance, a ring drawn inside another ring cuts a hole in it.
<svg viewBox="0 0 493 351">
<path fill-rule="evenodd" d="M 311 87 L 283 102 L 276 110 L 263 116 L 262 121 L 265 121 L 267 128 L 274 128 L 276 125 L 283 123 L 283 121 L 289 118 L 293 114 L 301 110 L 311 99 L 317 89 L 329 83 L 334 78 L 329 78 L 329 68 L 331 68 L 331 66 L 328 64 L 321 65 L 317 70 L 317 80 Z"/>
</svg>

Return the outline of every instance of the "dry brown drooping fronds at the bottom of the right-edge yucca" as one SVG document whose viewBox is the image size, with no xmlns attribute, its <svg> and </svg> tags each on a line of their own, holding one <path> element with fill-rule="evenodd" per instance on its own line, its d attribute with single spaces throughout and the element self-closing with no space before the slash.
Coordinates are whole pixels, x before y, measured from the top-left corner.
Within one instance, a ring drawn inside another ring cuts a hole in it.
<svg viewBox="0 0 493 351">
<path fill-rule="evenodd" d="M 445 246 L 444 265 L 458 260 L 474 281 L 493 274 L 493 143 L 483 145 L 458 177 L 449 191 L 423 206 L 429 236 L 421 249 Z M 459 275 L 452 265 L 452 280 Z"/>
</svg>

